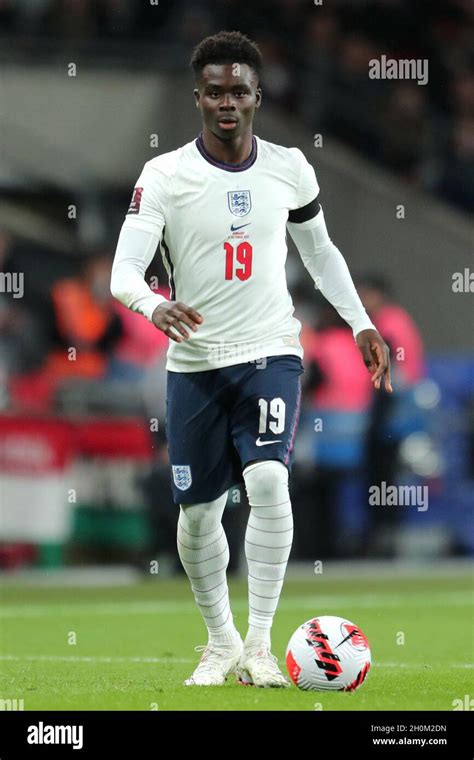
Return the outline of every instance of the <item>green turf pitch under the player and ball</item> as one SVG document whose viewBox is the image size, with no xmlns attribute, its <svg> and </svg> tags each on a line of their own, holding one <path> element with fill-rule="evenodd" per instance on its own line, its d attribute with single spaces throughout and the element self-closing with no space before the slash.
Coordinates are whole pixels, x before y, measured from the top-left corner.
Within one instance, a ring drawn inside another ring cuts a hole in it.
<svg viewBox="0 0 474 760">
<path fill-rule="evenodd" d="M 347 617 L 366 633 L 373 658 L 353 694 L 233 681 L 183 687 L 204 628 L 187 581 L 153 579 L 124 588 L 3 588 L 0 699 L 23 699 L 25 710 L 452 710 L 454 699 L 472 695 L 469 576 L 327 576 L 285 584 L 273 651 L 283 662 L 291 633 L 314 615 Z M 246 587 L 230 587 L 244 633 Z"/>
</svg>

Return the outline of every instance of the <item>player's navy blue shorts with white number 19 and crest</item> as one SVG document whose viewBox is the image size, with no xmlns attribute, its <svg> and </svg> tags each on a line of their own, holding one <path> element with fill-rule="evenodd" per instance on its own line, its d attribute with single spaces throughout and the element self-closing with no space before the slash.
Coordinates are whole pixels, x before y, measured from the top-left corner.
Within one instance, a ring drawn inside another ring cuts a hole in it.
<svg viewBox="0 0 474 760">
<path fill-rule="evenodd" d="M 253 460 L 277 459 L 291 472 L 302 372 L 294 355 L 168 371 L 166 437 L 176 504 L 217 499 L 242 482 Z"/>
</svg>

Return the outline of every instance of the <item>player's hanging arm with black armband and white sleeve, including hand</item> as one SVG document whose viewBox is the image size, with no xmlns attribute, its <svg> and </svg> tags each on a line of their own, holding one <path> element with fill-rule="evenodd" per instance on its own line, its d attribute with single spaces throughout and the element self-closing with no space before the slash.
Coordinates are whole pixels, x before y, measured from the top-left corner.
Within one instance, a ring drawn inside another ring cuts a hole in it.
<svg viewBox="0 0 474 760">
<path fill-rule="evenodd" d="M 290 211 L 287 227 L 315 287 L 352 328 L 374 387 L 379 389 L 383 378 L 391 392 L 388 346 L 362 305 L 343 255 L 329 237 L 317 198 Z"/>
</svg>

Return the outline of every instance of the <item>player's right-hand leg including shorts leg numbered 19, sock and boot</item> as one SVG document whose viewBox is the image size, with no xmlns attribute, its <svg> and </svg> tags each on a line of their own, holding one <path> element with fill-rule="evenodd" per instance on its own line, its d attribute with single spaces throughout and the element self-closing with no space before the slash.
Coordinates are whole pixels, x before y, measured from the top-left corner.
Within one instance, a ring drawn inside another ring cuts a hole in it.
<svg viewBox="0 0 474 760">
<path fill-rule="evenodd" d="M 249 629 L 239 667 L 243 682 L 286 686 L 271 654 L 271 627 L 293 538 L 288 489 L 303 371 L 294 356 L 270 357 L 241 378 L 232 416 L 250 504 L 245 553 L 249 568 Z M 267 458 L 268 457 L 268 458 Z"/>
</svg>

